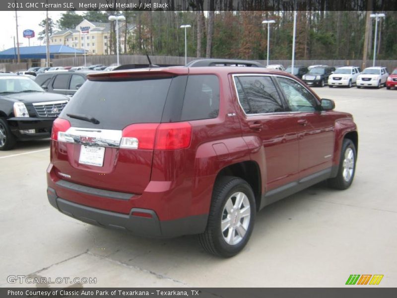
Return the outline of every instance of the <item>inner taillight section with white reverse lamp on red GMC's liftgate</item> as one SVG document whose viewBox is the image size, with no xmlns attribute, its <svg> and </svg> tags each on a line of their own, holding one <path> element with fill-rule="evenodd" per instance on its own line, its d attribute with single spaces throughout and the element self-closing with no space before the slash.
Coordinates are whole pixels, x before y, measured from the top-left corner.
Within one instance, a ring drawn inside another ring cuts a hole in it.
<svg viewBox="0 0 397 298">
<path fill-rule="evenodd" d="M 158 123 L 132 124 L 123 129 L 121 148 L 154 149 Z"/>
</svg>

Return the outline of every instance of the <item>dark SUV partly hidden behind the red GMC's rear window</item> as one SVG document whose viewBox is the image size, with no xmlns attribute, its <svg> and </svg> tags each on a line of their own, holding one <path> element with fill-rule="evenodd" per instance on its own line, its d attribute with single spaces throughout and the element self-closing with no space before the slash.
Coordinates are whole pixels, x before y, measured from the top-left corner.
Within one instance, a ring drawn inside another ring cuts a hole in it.
<svg viewBox="0 0 397 298">
<path fill-rule="evenodd" d="M 91 72 L 47 72 L 37 75 L 35 82 L 48 92 L 73 96 L 89 73 Z"/>
</svg>

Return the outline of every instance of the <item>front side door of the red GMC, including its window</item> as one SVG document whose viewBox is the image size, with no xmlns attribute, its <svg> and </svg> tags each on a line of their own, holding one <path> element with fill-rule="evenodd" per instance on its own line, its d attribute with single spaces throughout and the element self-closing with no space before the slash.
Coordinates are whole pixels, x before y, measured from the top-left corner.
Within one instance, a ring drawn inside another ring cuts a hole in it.
<svg viewBox="0 0 397 298">
<path fill-rule="evenodd" d="M 289 77 L 277 81 L 298 130 L 300 178 L 331 167 L 334 120 L 321 112 L 316 97 L 301 83 Z"/>
</svg>

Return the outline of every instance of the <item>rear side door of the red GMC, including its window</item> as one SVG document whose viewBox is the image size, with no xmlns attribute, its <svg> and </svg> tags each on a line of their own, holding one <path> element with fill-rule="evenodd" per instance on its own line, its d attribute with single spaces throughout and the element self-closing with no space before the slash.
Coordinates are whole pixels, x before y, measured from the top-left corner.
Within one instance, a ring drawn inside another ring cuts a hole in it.
<svg viewBox="0 0 397 298">
<path fill-rule="evenodd" d="M 244 111 L 243 135 L 257 136 L 265 149 L 266 190 L 295 181 L 298 177 L 298 126 L 294 115 L 286 110 L 273 77 L 235 74 L 233 78 Z"/>
</svg>

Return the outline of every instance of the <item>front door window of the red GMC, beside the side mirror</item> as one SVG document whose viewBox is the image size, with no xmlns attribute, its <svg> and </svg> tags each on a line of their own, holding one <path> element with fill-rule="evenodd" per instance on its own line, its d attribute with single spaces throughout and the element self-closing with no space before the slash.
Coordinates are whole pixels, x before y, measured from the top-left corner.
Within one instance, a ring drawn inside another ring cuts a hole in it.
<svg viewBox="0 0 397 298">
<path fill-rule="evenodd" d="M 291 112 L 314 112 L 317 109 L 316 98 L 295 80 L 278 77 Z"/>
</svg>

